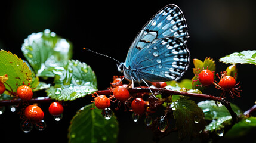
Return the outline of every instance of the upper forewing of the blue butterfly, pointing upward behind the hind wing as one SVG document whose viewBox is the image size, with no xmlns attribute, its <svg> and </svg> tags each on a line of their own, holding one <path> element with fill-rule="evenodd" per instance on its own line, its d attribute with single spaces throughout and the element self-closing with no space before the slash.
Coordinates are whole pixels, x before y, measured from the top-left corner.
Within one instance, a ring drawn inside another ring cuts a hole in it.
<svg viewBox="0 0 256 143">
<path fill-rule="evenodd" d="M 141 49 L 156 39 L 168 36 L 180 38 L 183 43 L 186 43 L 189 37 L 184 15 L 174 4 L 167 5 L 158 11 L 141 29 L 129 48 L 125 66 L 129 67 L 131 59 Z"/>
</svg>

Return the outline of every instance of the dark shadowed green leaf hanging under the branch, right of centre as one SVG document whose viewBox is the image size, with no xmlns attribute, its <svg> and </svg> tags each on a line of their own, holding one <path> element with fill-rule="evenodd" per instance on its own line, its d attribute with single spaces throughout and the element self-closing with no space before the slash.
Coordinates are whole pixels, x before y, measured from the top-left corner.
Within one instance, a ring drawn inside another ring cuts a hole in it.
<svg viewBox="0 0 256 143">
<path fill-rule="evenodd" d="M 192 100 L 177 100 L 171 104 L 179 138 L 196 137 L 205 129 L 203 111 Z"/>
</svg>

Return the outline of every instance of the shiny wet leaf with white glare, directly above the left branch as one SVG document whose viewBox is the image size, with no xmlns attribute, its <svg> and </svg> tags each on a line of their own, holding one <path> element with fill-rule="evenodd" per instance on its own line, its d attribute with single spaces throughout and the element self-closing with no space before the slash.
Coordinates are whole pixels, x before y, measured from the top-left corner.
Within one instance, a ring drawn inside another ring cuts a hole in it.
<svg viewBox="0 0 256 143">
<path fill-rule="evenodd" d="M 54 100 L 72 101 L 97 91 L 97 79 L 90 66 L 78 60 L 69 60 L 64 67 L 54 68 L 54 86 L 47 90 Z"/>
</svg>

